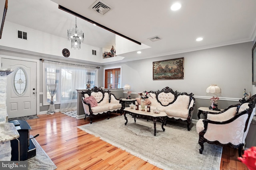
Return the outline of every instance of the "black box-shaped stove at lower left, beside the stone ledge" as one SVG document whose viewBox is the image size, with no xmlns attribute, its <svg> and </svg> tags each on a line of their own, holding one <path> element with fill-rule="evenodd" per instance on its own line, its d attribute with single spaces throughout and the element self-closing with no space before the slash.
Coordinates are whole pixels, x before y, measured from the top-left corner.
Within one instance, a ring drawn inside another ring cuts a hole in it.
<svg viewBox="0 0 256 170">
<path fill-rule="evenodd" d="M 24 120 L 9 121 L 14 123 L 20 137 L 11 141 L 12 158 L 11 160 L 27 160 L 28 159 L 28 147 L 30 146 L 29 130 L 30 125 Z"/>
</svg>

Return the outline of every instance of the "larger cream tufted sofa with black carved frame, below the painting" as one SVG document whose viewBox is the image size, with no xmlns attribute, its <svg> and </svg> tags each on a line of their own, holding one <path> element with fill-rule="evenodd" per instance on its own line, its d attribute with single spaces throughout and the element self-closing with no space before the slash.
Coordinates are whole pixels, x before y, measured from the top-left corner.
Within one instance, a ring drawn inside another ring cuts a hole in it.
<svg viewBox="0 0 256 170">
<path fill-rule="evenodd" d="M 151 97 L 150 109 L 158 109 L 167 114 L 168 119 L 186 121 L 188 131 L 190 131 L 190 123 L 195 106 L 194 94 L 180 93 L 166 87 L 162 90 L 149 91 Z"/>
</svg>

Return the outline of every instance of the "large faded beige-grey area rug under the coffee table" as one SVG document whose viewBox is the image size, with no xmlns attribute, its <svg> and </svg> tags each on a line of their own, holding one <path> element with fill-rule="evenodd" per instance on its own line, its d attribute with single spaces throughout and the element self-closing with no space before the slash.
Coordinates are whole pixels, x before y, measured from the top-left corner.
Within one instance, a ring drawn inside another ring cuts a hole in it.
<svg viewBox="0 0 256 170">
<path fill-rule="evenodd" d="M 164 170 L 219 170 L 222 147 L 204 143 L 203 154 L 199 153 L 198 133 L 195 125 L 190 131 L 186 125 L 154 125 L 152 121 L 136 119 L 130 115 L 127 125 L 124 116 L 82 125 L 78 128 L 100 137 L 120 149 L 138 156 Z"/>
</svg>

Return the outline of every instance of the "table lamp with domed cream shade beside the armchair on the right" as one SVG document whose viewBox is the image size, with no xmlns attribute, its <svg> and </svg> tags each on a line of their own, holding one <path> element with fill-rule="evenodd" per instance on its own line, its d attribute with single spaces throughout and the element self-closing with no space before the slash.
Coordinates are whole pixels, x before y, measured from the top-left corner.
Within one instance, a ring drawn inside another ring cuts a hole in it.
<svg viewBox="0 0 256 170">
<path fill-rule="evenodd" d="M 206 93 L 216 95 L 216 97 L 213 96 L 210 98 L 212 104 L 209 106 L 209 109 L 220 111 L 220 109 L 218 109 L 218 100 L 220 99 L 218 98 L 218 95 L 221 95 L 221 89 L 216 84 L 211 84 L 206 89 Z"/>
</svg>

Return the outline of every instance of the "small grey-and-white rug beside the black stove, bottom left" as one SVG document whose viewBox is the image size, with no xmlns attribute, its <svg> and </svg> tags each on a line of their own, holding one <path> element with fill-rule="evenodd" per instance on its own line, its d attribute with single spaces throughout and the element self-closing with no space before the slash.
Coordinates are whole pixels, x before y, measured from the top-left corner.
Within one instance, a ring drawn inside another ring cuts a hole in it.
<svg viewBox="0 0 256 170">
<path fill-rule="evenodd" d="M 33 136 L 30 135 L 30 138 Z M 52 162 L 49 156 L 44 152 L 36 139 L 31 139 L 36 146 L 36 156 L 28 159 L 28 170 L 55 170 L 57 166 Z"/>
</svg>

